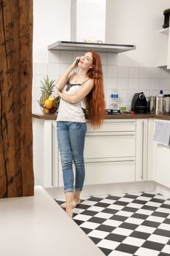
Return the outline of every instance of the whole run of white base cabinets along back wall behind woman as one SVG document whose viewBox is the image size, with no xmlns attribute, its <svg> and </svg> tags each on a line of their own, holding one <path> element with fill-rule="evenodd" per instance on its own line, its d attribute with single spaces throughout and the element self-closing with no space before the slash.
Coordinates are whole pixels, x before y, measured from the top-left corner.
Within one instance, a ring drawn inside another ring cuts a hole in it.
<svg viewBox="0 0 170 256">
<path fill-rule="evenodd" d="M 56 121 L 33 118 L 33 124 L 35 183 L 46 188 L 62 187 Z M 85 138 L 85 184 L 152 181 L 154 159 L 159 159 L 154 158 L 153 153 L 153 127 L 152 118 L 107 119 L 100 129 L 93 129 L 88 124 Z M 158 154 L 160 147 L 156 150 Z M 158 167 L 155 170 L 159 172 L 161 164 L 156 162 L 156 165 Z M 168 168 L 169 165 L 165 170 Z M 159 175 L 156 177 L 155 181 L 158 182 Z"/>
</svg>

